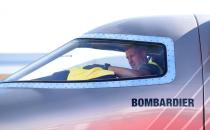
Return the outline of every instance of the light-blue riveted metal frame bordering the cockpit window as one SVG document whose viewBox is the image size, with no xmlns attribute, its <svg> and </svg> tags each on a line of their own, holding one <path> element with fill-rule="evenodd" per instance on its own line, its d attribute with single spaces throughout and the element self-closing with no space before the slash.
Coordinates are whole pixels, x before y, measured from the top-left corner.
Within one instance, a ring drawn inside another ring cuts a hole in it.
<svg viewBox="0 0 210 130">
<path fill-rule="evenodd" d="M 175 79 L 175 56 L 174 42 L 168 37 L 159 36 L 143 36 L 143 35 L 127 35 L 127 34 L 106 34 L 91 33 L 84 34 L 79 39 L 104 39 L 104 40 L 121 40 L 146 42 L 147 44 L 162 44 L 166 48 L 167 70 L 165 75 L 161 77 L 148 78 L 129 78 L 120 80 L 102 80 L 102 81 L 12 81 L 0 84 L 0 87 L 21 87 L 21 88 L 109 88 L 109 87 L 130 87 L 143 85 L 157 85 L 172 82 Z M 68 44 L 68 43 L 67 43 Z M 65 45 L 64 45 L 65 46 Z M 70 46 L 73 49 L 76 45 Z"/>
</svg>

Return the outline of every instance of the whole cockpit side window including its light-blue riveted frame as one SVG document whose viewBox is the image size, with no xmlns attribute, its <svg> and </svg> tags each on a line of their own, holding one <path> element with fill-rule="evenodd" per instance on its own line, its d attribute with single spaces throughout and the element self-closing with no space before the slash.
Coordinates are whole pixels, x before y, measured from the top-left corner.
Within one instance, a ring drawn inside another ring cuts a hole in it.
<svg viewBox="0 0 210 130">
<path fill-rule="evenodd" d="M 46 86 L 40 83 L 55 83 L 51 84 L 53 88 L 94 88 L 163 84 L 174 77 L 174 45 L 170 38 L 86 34 L 4 82 L 30 83 L 25 87 L 42 88 Z"/>
</svg>

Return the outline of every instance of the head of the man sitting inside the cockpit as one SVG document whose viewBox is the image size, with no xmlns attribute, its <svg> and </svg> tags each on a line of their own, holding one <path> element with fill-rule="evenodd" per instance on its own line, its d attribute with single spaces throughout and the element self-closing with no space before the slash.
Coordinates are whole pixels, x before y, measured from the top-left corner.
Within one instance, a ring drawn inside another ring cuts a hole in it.
<svg viewBox="0 0 210 130">
<path fill-rule="evenodd" d="M 146 47 L 132 46 L 126 50 L 126 58 L 132 69 L 138 70 L 142 64 L 147 62 Z"/>
</svg>

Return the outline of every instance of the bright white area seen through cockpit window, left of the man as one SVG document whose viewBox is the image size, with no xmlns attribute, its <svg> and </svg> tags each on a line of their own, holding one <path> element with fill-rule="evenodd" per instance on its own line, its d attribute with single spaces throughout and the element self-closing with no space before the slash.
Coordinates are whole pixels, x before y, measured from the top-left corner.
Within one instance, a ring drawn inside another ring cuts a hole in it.
<svg viewBox="0 0 210 130">
<path fill-rule="evenodd" d="M 117 60 L 119 60 L 120 63 L 117 63 Z M 103 65 L 105 63 L 111 63 L 121 67 L 129 67 L 123 52 L 99 50 L 93 48 L 75 48 L 71 52 L 68 52 L 49 64 L 39 68 L 37 71 L 34 71 L 28 76 L 23 77 L 21 80 L 65 80 L 62 78 L 62 76 L 67 76 L 65 72 L 70 71 L 72 68 L 80 68 L 93 64 Z M 61 74 L 59 75 L 61 77 L 56 79 L 56 75 L 59 73 Z M 62 75 L 62 73 L 64 75 Z M 55 78 L 53 78 L 54 76 Z M 50 79 L 50 77 L 52 77 L 52 79 Z"/>
</svg>

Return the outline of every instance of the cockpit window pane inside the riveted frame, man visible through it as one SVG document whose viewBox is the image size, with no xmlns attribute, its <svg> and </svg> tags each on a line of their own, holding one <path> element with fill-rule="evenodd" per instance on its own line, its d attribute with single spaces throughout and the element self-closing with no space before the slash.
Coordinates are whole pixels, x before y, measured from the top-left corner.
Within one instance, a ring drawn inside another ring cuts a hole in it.
<svg viewBox="0 0 210 130">
<path fill-rule="evenodd" d="M 162 77 L 167 71 L 160 43 L 79 39 L 72 44 L 77 46 L 19 80 L 122 80 Z"/>
</svg>

